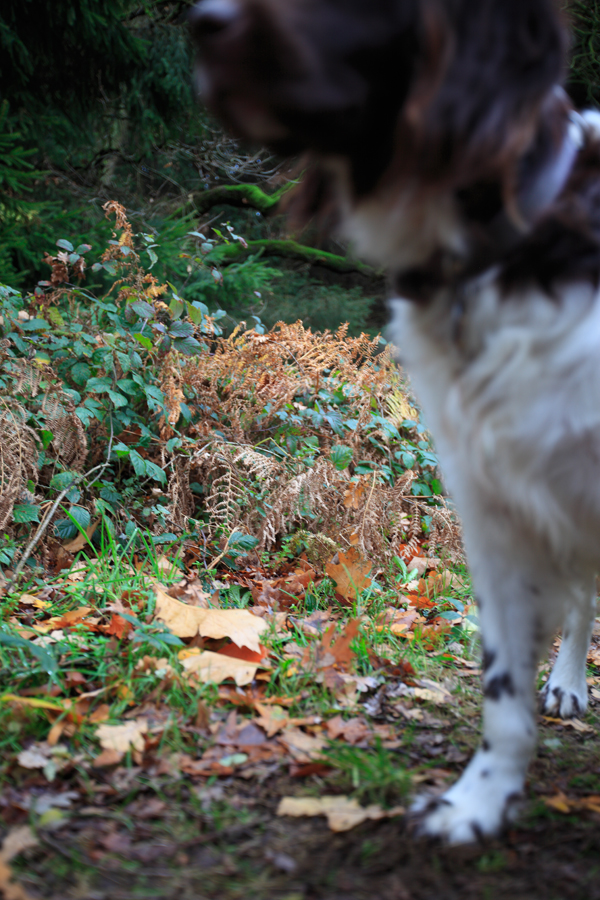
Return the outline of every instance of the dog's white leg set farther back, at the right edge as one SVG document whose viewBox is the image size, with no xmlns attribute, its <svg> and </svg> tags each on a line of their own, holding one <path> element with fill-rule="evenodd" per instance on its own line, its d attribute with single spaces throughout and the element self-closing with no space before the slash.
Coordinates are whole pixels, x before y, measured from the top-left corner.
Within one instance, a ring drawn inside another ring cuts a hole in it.
<svg viewBox="0 0 600 900">
<path fill-rule="evenodd" d="M 558 658 L 542 689 L 542 710 L 569 719 L 587 707 L 585 663 L 596 615 L 596 592 L 581 586 L 563 625 Z"/>
</svg>

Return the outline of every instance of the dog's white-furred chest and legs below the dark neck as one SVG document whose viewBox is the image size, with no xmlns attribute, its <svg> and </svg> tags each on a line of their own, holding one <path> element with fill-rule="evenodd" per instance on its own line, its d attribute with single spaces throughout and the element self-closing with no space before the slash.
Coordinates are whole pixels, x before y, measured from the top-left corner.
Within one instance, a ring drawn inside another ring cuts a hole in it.
<svg viewBox="0 0 600 900">
<path fill-rule="evenodd" d="M 498 832 L 535 747 L 540 655 L 564 623 L 546 711 L 587 702 L 585 660 L 600 553 L 600 294 L 512 296 L 488 272 L 457 297 L 392 303 L 412 377 L 460 513 L 478 600 L 484 741 L 422 830 L 450 842 Z"/>
</svg>

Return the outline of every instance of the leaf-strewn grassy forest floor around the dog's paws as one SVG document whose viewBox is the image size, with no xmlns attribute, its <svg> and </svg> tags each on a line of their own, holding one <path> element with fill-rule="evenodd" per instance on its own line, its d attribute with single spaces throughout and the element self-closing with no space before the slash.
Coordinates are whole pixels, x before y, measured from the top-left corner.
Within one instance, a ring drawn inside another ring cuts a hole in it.
<svg viewBox="0 0 600 900">
<path fill-rule="evenodd" d="M 600 623 L 590 709 L 540 717 L 517 823 L 443 848 L 403 811 L 477 746 L 464 571 L 422 562 L 351 602 L 302 559 L 246 560 L 212 594 L 165 557 L 131 562 L 3 601 L 23 636 L 1 704 L 7 900 L 600 898 Z M 32 686 L 36 664 L 50 677 Z"/>
</svg>

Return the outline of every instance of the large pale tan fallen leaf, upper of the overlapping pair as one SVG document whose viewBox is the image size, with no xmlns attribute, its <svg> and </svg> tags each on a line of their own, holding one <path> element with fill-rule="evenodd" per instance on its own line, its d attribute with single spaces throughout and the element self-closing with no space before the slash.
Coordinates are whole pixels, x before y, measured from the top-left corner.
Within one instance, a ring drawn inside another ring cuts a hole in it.
<svg viewBox="0 0 600 900">
<path fill-rule="evenodd" d="M 230 638 L 238 647 L 260 652 L 259 637 L 268 624 L 247 609 L 200 609 L 170 597 L 159 585 L 155 616 L 177 637 Z"/>
</svg>

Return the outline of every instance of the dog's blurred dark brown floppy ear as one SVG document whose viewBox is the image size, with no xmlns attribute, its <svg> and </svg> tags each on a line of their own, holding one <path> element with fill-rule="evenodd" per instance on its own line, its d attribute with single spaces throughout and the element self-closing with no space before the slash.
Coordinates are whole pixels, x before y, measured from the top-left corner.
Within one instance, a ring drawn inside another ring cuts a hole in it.
<svg viewBox="0 0 600 900">
<path fill-rule="evenodd" d="M 421 4 L 420 68 L 399 145 L 429 183 L 504 176 L 563 79 L 566 32 L 554 0 Z"/>
</svg>

